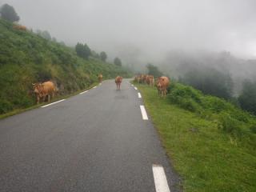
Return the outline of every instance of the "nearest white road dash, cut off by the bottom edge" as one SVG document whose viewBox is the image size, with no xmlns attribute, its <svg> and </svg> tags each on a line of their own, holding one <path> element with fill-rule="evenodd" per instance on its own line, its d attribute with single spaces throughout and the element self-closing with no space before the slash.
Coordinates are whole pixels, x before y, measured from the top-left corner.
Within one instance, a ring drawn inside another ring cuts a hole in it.
<svg viewBox="0 0 256 192">
<path fill-rule="evenodd" d="M 165 170 L 161 165 L 152 166 L 153 175 L 154 175 L 154 186 L 156 192 L 170 192 L 168 182 L 166 179 Z"/>
</svg>

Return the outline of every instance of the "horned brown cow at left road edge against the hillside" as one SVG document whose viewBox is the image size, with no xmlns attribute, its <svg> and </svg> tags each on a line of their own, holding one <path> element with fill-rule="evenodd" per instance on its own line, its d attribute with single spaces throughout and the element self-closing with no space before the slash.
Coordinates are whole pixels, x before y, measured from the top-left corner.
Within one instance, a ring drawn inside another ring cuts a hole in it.
<svg viewBox="0 0 256 192">
<path fill-rule="evenodd" d="M 43 82 L 43 83 L 35 83 L 34 93 L 37 95 L 37 103 L 40 102 L 40 98 L 44 102 L 46 96 L 48 96 L 48 102 L 50 102 L 50 95 L 54 98 L 54 93 L 56 91 L 56 87 L 53 82 Z"/>
</svg>

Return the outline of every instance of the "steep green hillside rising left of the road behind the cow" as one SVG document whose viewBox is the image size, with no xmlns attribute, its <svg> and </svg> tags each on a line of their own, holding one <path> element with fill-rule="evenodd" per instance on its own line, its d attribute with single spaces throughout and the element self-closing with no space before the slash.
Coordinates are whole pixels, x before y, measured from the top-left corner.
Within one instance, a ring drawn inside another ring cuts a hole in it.
<svg viewBox="0 0 256 192">
<path fill-rule="evenodd" d="M 74 49 L 52 42 L 29 30 L 15 30 L 0 19 L 0 114 L 35 104 L 32 83 L 52 80 L 58 95 L 83 90 L 97 75 L 128 77 L 121 66 L 97 58 L 79 58 Z"/>
</svg>

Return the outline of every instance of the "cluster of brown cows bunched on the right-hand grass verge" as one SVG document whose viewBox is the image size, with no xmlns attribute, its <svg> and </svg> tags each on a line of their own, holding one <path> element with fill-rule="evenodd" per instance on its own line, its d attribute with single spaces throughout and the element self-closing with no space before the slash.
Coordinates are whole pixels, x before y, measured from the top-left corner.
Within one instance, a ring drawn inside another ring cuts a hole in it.
<svg viewBox="0 0 256 192">
<path fill-rule="evenodd" d="M 144 83 L 149 86 L 156 86 L 158 88 L 158 94 L 166 96 L 167 88 L 170 84 L 169 78 L 162 76 L 154 80 L 154 76 L 150 74 L 138 74 L 135 76 L 134 81 L 137 83 Z"/>
</svg>

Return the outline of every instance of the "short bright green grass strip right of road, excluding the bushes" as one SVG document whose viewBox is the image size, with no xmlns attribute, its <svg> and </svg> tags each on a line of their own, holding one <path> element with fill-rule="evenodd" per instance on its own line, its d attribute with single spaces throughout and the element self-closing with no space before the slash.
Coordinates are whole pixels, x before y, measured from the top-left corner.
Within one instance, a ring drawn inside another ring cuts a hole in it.
<svg viewBox="0 0 256 192">
<path fill-rule="evenodd" d="M 214 119 L 171 104 L 170 96 L 138 89 L 185 191 L 256 191 L 255 145 L 218 129 Z"/>
</svg>

